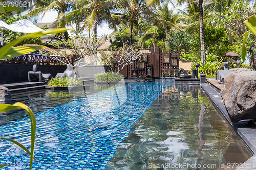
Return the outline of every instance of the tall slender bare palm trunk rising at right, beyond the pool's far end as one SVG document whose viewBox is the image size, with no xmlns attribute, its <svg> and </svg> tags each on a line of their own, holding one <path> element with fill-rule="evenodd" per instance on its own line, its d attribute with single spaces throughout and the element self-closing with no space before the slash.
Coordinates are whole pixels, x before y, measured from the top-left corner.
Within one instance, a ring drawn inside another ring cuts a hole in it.
<svg viewBox="0 0 256 170">
<path fill-rule="evenodd" d="M 204 49 L 204 14 L 203 0 L 199 0 L 199 23 L 200 23 L 200 42 L 201 42 L 201 59 L 202 64 L 205 64 L 205 49 Z"/>
</svg>

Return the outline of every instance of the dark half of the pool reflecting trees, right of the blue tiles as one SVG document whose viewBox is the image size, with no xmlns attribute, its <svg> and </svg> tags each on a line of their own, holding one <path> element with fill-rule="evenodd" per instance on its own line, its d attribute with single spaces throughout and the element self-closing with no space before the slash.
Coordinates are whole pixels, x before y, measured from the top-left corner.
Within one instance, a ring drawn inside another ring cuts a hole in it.
<svg viewBox="0 0 256 170">
<path fill-rule="evenodd" d="M 133 126 L 105 169 L 225 169 L 251 156 L 200 87 L 173 85 Z"/>
</svg>

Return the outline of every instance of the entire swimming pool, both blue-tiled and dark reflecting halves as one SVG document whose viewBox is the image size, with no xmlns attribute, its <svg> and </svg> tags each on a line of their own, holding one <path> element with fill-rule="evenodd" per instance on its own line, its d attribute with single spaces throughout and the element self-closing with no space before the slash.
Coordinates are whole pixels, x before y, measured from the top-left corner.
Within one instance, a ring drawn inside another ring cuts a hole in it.
<svg viewBox="0 0 256 170">
<path fill-rule="evenodd" d="M 230 143 L 240 145 L 240 162 L 245 161 L 249 150 L 218 116 L 198 88 L 184 90 L 173 83 L 117 85 L 36 113 L 38 161 L 33 169 L 143 169 L 199 160 L 221 164 Z M 29 119 L 4 124 L 0 132 L 28 145 Z M 0 146 L 1 164 L 9 164 L 3 169 L 29 167 L 25 152 L 2 140 Z"/>
</svg>

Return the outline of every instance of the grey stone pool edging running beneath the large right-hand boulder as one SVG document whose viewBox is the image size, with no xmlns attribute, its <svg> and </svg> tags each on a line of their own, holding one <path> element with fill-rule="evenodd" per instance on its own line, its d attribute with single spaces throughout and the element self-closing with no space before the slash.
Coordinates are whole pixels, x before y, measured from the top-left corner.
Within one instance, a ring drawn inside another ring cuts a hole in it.
<svg viewBox="0 0 256 170">
<path fill-rule="evenodd" d="M 255 169 L 256 170 L 256 128 L 255 127 L 247 127 L 245 124 L 247 121 L 240 121 L 238 123 L 232 123 L 226 107 L 223 103 L 221 94 L 212 88 L 209 84 L 203 83 L 201 84 L 201 88 L 204 90 L 206 95 L 210 98 L 210 100 L 216 105 L 216 107 L 220 110 L 220 112 L 224 115 L 224 117 L 228 120 L 229 124 L 233 127 L 234 131 L 238 133 L 244 143 L 248 146 L 248 148 L 252 151 L 253 156 L 250 157 L 247 161 L 245 161 L 241 166 L 237 168 L 237 170 L 243 169 Z"/>
</svg>

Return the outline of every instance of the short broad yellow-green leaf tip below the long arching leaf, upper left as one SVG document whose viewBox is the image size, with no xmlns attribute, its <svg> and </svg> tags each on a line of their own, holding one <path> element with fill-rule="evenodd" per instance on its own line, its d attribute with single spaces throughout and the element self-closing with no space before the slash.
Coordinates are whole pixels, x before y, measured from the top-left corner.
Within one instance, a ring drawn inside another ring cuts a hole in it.
<svg viewBox="0 0 256 170">
<path fill-rule="evenodd" d="M 39 46 L 15 46 L 11 47 L 10 50 L 6 53 L 6 55 L 1 58 L 0 60 L 10 59 L 14 57 L 18 57 L 24 54 L 32 53 L 34 51 L 37 51 L 41 48 L 45 48 L 44 45 Z"/>
</svg>

